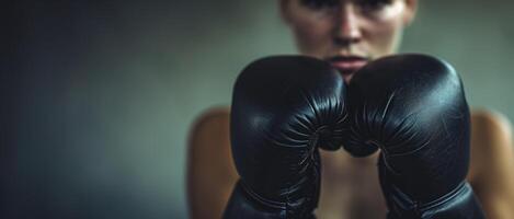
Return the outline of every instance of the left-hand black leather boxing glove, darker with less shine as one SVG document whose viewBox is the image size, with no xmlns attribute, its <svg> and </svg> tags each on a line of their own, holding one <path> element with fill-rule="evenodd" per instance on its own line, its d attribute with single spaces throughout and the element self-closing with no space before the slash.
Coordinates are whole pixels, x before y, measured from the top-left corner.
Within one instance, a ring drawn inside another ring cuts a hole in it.
<svg viewBox="0 0 514 219">
<path fill-rule="evenodd" d="M 318 147 L 341 147 L 345 93 L 341 74 L 315 58 L 270 57 L 241 72 L 230 114 L 240 180 L 225 218 L 315 218 Z"/>
</svg>

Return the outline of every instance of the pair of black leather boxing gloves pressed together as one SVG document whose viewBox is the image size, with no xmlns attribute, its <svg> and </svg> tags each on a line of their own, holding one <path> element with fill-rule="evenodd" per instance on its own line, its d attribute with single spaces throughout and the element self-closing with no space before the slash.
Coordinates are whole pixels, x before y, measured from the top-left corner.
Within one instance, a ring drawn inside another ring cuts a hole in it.
<svg viewBox="0 0 514 219">
<path fill-rule="evenodd" d="M 484 218 L 466 182 L 470 115 L 462 84 L 441 59 L 380 58 L 349 84 L 315 58 L 260 59 L 237 79 L 230 119 L 240 180 L 225 218 L 316 218 L 318 149 L 341 146 L 355 157 L 380 150 L 388 219 Z"/>
</svg>

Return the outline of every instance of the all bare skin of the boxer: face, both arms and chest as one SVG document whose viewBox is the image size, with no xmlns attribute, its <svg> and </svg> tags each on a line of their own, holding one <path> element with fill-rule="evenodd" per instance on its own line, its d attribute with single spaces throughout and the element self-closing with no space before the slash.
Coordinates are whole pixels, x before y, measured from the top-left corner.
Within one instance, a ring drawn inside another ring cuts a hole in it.
<svg viewBox="0 0 514 219">
<path fill-rule="evenodd" d="M 322 7 L 316 7 L 301 1 L 278 1 L 299 53 L 331 61 L 346 82 L 365 62 L 397 51 L 418 4 L 416 0 L 384 1 L 378 7 L 370 0 L 321 0 Z M 191 218 L 220 218 L 238 180 L 228 127 L 227 107 L 206 111 L 192 127 L 186 180 Z M 384 218 L 387 209 L 378 184 L 377 154 L 357 159 L 346 152 L 321 151 L 318 218 Z M 488 218 L 514 218 L 512 128 L 502 115 L 472 112 L 467 180 Z"/>
</svg>

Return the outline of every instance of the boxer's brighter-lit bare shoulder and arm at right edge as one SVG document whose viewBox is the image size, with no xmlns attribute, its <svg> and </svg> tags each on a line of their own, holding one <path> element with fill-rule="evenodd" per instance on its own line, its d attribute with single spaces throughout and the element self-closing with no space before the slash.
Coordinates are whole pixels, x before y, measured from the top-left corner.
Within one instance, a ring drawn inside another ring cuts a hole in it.
<svg viewBox="0 0 514 219">
<path fill-rule="evenodd" d="M 500 113 L 471 114 L 471 162 L 468 181 L 488 218 L 514 218 L 514 148 L 512 125 Z"/>
</svg>

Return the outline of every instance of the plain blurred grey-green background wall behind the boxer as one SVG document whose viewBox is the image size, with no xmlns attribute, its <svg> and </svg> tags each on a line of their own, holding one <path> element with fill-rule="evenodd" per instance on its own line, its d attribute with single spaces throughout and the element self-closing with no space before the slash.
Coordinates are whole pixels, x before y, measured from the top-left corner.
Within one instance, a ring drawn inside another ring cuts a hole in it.
<svg viewBox="0 0 514 219">
<path fill-rule="evenodd" d="M 402 51 L 447 59 L 470 105 L 514 119 L 514 2 L 420 3 Z M 186 218 L 191 124 L 230 103 L 245 64 L 296 53 L 276 0 L 5 9 L 1 218 Z"/>
</svg>

